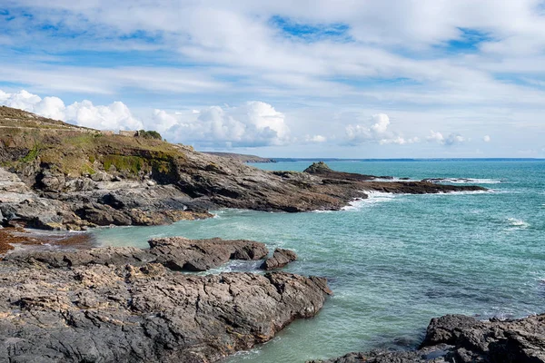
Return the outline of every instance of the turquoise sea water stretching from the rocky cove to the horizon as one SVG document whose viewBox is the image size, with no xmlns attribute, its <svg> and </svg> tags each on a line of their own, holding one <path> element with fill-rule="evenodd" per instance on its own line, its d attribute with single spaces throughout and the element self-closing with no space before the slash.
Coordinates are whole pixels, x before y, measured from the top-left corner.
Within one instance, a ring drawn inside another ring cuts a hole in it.
<svg viewBox="0 0 545 363">
<path fill-rule="evenodd" d="M 302 171 L 308 162 L 259 164 Z M 329 162 L 334 170 L 471 178 L 489 192 L 372 194 L 345 211 L 217 211 L 207 221 L 95 231 L 107 245 L 155 236 L 253 239 L 296 250 L 286 270 L 327 277 L 334 296 L 314 319 L 229 363 L 304 362 L 369 348 L 411 348 L 429 320 L 545 311 L 545 162 Z M 233 262 L 220 270 L 249 270 Z M 215 271 L 215 272 L 217 272 Z"/>
</svg>

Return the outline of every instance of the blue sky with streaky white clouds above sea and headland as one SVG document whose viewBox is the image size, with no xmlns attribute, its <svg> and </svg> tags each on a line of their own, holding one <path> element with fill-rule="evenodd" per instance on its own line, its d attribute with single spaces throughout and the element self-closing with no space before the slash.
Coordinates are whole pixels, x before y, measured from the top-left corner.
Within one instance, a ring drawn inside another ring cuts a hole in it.
<svg viewBox="0 0 545 363">
<path fill-rule="evenodd" d="M 0 0 L 0 104 L 269 157 L 545 157 L 545 2 Z"/>
</svg>

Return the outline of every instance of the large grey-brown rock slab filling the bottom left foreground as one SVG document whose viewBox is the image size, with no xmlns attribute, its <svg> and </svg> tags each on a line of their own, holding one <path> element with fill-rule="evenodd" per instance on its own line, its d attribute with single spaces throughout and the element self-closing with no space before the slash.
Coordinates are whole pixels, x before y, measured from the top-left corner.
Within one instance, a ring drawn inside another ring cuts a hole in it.
<svg viewBox="0 0 545 363">
<path fill-rule="evenodd" d="M 2 261 L 0 361 L 214 362 L 312 318 L 329 292 L 324 279 L 288 273 Z"/>
</svg>

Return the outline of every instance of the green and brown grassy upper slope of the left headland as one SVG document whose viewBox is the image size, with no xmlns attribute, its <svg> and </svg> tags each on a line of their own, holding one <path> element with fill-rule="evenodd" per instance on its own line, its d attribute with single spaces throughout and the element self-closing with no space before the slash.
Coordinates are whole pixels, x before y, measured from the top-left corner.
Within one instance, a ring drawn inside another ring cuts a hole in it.
<svg viewBox="0 0 545 363">
<path fill-rule="evenodd" d="M 99 170 L 139 177 L 153 172 L 173 176 L 173 166 L 183 163 L 184 147 L 163 142 L 155 131 L 140 131 L 138 137 L 101 133 L 32 113 L 0 107 L 0 164 L 23 170 L 39 160 L 57 172 L 74 177 Z"/>
</svg>

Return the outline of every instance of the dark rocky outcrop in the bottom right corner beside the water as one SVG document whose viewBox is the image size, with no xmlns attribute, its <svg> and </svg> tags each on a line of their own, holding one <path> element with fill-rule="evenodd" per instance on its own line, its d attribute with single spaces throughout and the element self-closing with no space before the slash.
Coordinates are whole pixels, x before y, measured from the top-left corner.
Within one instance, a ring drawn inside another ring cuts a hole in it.
<svg viewBox="0 0 545 363">
<path fill-rule="evenodd" d="M 462 315 L 431 319 L 418 350 L 350 353 L 313 363 L 539 363 L 545 362 L 545 314 L 516 320 Z"/>
</svg>

